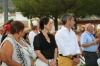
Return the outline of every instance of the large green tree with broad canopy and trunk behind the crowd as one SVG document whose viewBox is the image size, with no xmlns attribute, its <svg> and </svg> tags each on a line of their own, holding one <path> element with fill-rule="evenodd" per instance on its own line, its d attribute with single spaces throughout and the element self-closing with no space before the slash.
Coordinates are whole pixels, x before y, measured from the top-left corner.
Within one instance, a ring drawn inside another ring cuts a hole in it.
<svg viewBox="0 0 100 66">
<path fill-rule="evenodd" d="M 57 30 L 57 18 L 64 13 L 73 13 L 77 17 L 100 15 L 100 0 L 13 0 L 17 10 L 28 18 L 50 17 L 54 19 Z"/>
</svg>

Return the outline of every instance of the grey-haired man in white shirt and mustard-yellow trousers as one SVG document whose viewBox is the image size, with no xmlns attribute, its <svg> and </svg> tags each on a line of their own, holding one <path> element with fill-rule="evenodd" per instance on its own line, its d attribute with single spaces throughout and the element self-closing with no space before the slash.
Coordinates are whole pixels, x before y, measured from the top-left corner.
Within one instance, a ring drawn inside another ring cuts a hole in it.
<svg viewBox="0 0 100 66">
<path fill-rule="evenodd" d="M 74 16 L 65 14 L 62 17 L 63 27 L 55 35 L 59 50 L 58 66 L 74 66 L 79 63 L 80 49 L 74 27 Z"/>
</svg>

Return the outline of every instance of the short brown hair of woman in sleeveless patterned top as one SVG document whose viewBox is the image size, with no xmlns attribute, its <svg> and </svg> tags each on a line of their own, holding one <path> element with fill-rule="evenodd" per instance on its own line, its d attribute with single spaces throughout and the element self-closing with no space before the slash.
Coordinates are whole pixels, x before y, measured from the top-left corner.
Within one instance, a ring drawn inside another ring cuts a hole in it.
<svg viewBox="0 0 100 66">
<path fill-rule="evenodd" d="M 19 33 L 21 30 L 24 30 L 24 24 L 20 21 L 13 21 L 10 24 L 10 29 L 11 34 Z"/>
</svg>

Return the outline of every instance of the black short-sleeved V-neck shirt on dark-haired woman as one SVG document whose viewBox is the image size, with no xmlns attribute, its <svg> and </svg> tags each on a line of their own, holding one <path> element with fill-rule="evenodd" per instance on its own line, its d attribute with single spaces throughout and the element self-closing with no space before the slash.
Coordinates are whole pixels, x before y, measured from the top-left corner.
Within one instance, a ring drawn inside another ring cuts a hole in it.
<svg viewBox="0 0 100 66">
<path fill-rule="evenodd" d="M 45 36 L 42 32 L 40 32 L 38 35 L 34 38 L 34 50 L 40 50 L 40 52 L 43 54 L 43 56 L 46 59 L 53 59 L 54 58 L 54 51 L 55 48 L 57 48 L 54 36 L 52 34 L 48 33 L 48 36 L 50 38 L 50 43 L 46 40 Z"/>
</svg>

